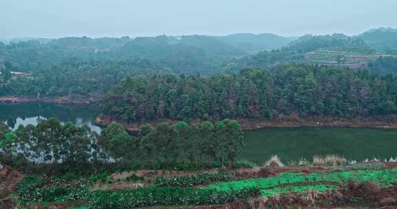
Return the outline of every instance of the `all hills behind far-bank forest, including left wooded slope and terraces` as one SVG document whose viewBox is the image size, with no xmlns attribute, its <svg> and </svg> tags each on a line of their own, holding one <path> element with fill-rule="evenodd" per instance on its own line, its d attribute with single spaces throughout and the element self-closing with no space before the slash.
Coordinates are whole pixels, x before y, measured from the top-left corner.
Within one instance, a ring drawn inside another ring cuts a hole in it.
<svg viewBox="0 0 397 209">
<path fill-rule="evenodd" d="M 395 31 L 372 30 L 363 34 L 363 39 L 343 34 L 299 39 L 234 34 L 11 41 L 0 43 L 0 96 L 84 98 L 102 96 L 112 85 L 131 76 L 238 74 L 245 68 L 291 64 L 336 65 L 365 68 L 380 75 L 397 74 L 397 56 L 383 56 L 385 45 L 394 49 L 394 36 L 369 39 L 369 34 L 374 33 Z M 250 54 L 276 47 L 281 49 Z"/>
</svg>

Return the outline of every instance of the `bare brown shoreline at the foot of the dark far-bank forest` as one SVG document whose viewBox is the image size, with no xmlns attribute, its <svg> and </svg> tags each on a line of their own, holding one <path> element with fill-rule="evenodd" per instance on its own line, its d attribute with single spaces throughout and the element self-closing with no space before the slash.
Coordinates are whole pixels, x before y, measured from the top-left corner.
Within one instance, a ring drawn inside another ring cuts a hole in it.
<svg viewBox="0 0 397 209">
<path fill-rule="evenodd" d="M 243 130 L 256 130 L 267 128 L 298 128 L 298 127 L 346 127 L 346 128 L 366 128 L 366 129 L 397 129 L 397 115 L 388 115 L 387 117 L 371 117 L 371 118 L 325 118 L 325 117 L 311 117 L 311 118 L 295 118 L 278 119 L 274 121 L 268 120 L 254 120 L 234 118 L 237 120 Z M 199 122 L 200 120 L 193 120 L 190 124 Z M 151 124 L 155 126 L 160 122 L 169 122 L 174 124 L 178 120 L 157 120 L 152 122 L 134 122 L 127 124 L 125 122 L 110 120 L 108 117 L 96 117 L 94 124 L 100 126 L 107 126 L 112 122 L 119 122 L 128 131 L 139 131 L 139 127 L 143 124 Z"/>
</svg>

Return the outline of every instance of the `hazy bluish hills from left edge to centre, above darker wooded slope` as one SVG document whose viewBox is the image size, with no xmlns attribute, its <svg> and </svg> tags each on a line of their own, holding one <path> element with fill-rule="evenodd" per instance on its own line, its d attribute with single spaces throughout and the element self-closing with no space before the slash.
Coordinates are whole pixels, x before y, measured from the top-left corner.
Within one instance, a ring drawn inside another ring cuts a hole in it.
<svg viewBox="0 0 397 209">
<path fill-rule="evenodd" d="M 158 36 L 90 39 L 64 38 L 48 43 L 22 41 L 0 44 L 0 60 L 9 61 L 21 72 L 58 65 L 70 58 L 78 61 L 130 61 L 149 59 L 186 74 L 216 72 L 222 62 L 245 52 L 208 36 Z"/>
</svg>

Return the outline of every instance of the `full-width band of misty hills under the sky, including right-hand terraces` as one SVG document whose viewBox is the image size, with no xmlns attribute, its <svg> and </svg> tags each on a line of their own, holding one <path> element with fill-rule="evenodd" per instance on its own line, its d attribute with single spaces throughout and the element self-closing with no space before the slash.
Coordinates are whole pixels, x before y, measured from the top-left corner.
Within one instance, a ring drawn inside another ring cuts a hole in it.
<svg viewBox="0 0 397 209">
<path fill-rule="evenodd" d="M 275 34 L 231 34 L 163 35 L 134 39 L 128 36 L 99 39 L 85 36 L 14 39 L 14 42 L 0 44 L 0 59 L 12 63 L 14 69 L 21 72 L 35 72 L 60 65 L 70 59 L 80 63 L 134 63 L 136 59 L 141 59 L 175 73 L 216 74 L 225 69 L 234 71 L 241 67 L 272 67 L 288 63 L 346 65 L 358 68 L 367 66 L 382 54 L 396 54 L 396 50 L 396 30 L 380 28 L 359 36 L 307 34 L 301 37 L 283 37 Z M 307 53 L 310 53 L 309 56 Z"/>
</svg>

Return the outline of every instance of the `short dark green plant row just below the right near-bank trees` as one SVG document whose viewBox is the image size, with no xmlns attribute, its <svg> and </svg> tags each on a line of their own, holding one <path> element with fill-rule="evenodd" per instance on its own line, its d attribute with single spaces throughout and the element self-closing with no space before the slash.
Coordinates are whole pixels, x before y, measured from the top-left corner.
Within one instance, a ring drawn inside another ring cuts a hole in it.
<svg viewBox="0 0 397 209">
<path fill-rule="evenodd" d="M 230 181 L 234 178 L 234 173 L 201 173 L 197 175 L 187 175 L 179 177 L 161 177 L 154 179 L 156 186 L 197 186 L 209 184 L 214 181 Z"/>
</svg>

